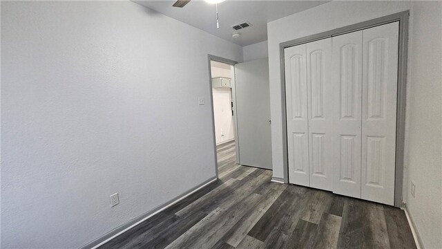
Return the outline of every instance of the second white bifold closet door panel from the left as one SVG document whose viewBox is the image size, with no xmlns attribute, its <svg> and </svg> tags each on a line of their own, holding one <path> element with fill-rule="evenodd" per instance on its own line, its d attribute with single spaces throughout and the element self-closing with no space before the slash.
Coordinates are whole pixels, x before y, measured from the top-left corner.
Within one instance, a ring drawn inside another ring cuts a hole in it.
<svg viewBox="0 0 442 249">
<path fill-rule="evenodd" d="M 332 190 L 332 38 L 306 45 L 310 187 Z"/>
</svg>

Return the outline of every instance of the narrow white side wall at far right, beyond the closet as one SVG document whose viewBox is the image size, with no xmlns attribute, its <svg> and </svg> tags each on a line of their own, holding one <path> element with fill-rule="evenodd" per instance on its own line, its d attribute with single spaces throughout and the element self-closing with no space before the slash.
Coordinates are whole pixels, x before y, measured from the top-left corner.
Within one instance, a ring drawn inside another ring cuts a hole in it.
<svg viewBox="0 0 442 249">
<path fill-rule="evenodd" d="M 423 246 L 442 248 L 442 2 L 412 2 L 411 21 L 404 196 Z"/>
</svg>

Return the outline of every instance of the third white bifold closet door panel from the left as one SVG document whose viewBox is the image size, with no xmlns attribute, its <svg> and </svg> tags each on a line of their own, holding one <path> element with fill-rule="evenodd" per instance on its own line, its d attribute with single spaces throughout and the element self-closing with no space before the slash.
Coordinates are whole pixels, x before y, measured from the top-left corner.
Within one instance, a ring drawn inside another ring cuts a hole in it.
<svg viewBox="0 0 442 249">
<path fill-rule="evenodd" d="M 333 192 L 361 198 L 362 31 L 333 37 Z"/>
</svg>

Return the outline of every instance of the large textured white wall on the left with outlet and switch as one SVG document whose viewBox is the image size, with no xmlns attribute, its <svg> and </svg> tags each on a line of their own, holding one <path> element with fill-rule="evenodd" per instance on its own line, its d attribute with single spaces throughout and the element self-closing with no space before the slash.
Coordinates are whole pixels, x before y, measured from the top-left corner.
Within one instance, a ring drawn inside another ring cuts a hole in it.
<svg viewBox="0 0 442 249">
<path fill-rule="evenodd" d="M 77 248 L 215 176 L 198 96 L 240 46 L 131 1 L 1 1 L 1 52 L 2 248 Z"/>
</svg>

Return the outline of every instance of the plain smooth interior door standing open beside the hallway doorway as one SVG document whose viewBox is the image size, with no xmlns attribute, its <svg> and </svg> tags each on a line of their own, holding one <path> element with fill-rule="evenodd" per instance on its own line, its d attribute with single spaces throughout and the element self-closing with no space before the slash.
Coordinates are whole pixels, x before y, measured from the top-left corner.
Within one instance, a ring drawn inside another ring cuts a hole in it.
<svg viewBox="0 0 442 249">
<path fill-rule="evenodd" d="M 272 169 L 269 59 L 238 63 L 235 75 L 239 163 Z"/>
</svg>

